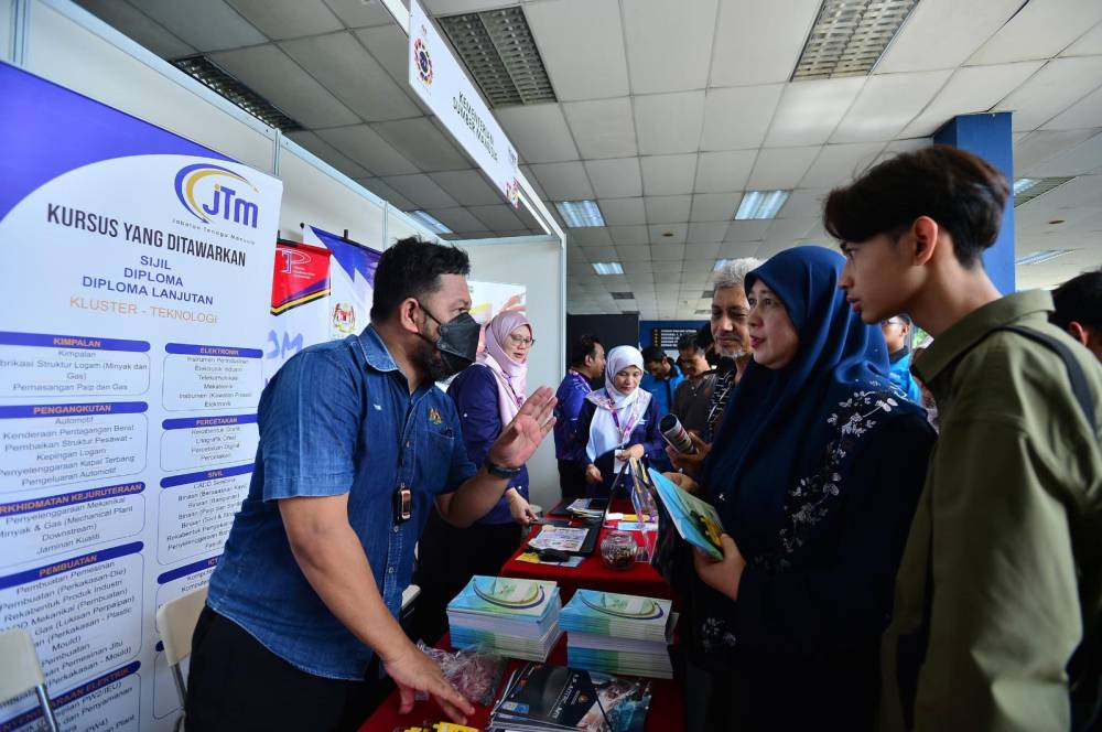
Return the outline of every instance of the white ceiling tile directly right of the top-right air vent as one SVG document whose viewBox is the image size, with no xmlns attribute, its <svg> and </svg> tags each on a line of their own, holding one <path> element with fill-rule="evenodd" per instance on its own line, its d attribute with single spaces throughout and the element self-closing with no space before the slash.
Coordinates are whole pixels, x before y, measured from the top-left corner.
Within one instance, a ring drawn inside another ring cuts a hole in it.
<svg viewBox="0 0 1102 732">
<path fill-rule="evenodd" d="M 1003 26 L 1022 0 L 922 0 L 876 64 L 878 74 L 953 68 Z M 931 52 L 931 44 L 937 52 Z"/>
</svg>

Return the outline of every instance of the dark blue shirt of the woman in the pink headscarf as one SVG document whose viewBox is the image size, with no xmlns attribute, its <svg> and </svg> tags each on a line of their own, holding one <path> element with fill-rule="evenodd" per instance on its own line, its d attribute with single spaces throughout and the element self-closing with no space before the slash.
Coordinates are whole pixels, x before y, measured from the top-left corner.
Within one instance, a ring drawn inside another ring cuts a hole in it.
<svg viewBox="0 0 1102 732">
<path fill-rule="evenodd" d="M 505 424 L 501 423 L 501 412 L 497 400 L 497 377 L 488 366 L 474 364 L 460 372 L 447 387 L 447 396 L 455 402 L 463 424 L 463 444 L 467 449 L 467 458 L 475 465 L 486 462 L 486 455 L 494 441 L 501 434 Z M 521 465 L 520 472 L 509 481 L 510 488 L 516 488 L 528 500 L 528 466 Z M 488 514 L 476 524 L 512 524 L 509 513 L 509 502 L 503 495 Z"/>
</svg>

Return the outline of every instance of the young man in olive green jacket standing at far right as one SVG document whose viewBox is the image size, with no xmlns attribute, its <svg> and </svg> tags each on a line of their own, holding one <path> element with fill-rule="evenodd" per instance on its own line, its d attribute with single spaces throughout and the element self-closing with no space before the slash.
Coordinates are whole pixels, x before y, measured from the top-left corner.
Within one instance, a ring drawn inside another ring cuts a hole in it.
<svg viewBox="0 0 1102 732">
<path fill-rule="evenodd" d="M 981 256 L 1009 190 L 942 146 L 832 191 L 841 287 L 866 323 L 908 313 L 933 335 L 912 368 L 941 435 L 896 579 L 882 646 L 880 729 L 1066 731 L 1068 664 L 1100 627 L 1102 367 L 1048 323 L 1047 292 L 1001 297 Z M 1077 401 L 1050 346 L 1085 375 Z"/>
</svg>

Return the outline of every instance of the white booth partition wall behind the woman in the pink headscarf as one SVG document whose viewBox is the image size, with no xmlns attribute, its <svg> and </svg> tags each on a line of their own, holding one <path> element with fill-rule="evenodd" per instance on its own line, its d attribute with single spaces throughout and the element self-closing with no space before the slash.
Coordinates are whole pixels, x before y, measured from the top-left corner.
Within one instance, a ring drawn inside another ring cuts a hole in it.
<svg viewBox="0 0 1102 732">
<path fill-rule="evenodd" d="M 566 309 L 560 284 L 565 272 L 561 269 L 559 243 L 457 244 L 471 256 L 471 279 L 523 284 L 528 289 L 528 319 L 536 336 L 528 366 L 529 391 L 539 386 L 559 388 L 566 362 L 562 345 Z M 551 435 L 529 461 L 528 474 L 532 503 L 547 509 L 559 502 L 559 467 Z"/>
</svg>

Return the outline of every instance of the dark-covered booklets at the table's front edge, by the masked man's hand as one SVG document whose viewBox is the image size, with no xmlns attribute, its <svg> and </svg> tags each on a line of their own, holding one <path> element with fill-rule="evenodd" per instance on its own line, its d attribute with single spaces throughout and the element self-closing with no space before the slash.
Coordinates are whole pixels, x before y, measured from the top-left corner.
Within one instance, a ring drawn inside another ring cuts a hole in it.
<svg viewBox="0 0 1102 732">
<path fill-rule="evenodd" d="M 642 732 L 650 682 L 564 666 L 528 664 L 509 680 L 487 730 Z"/>
</svg>

